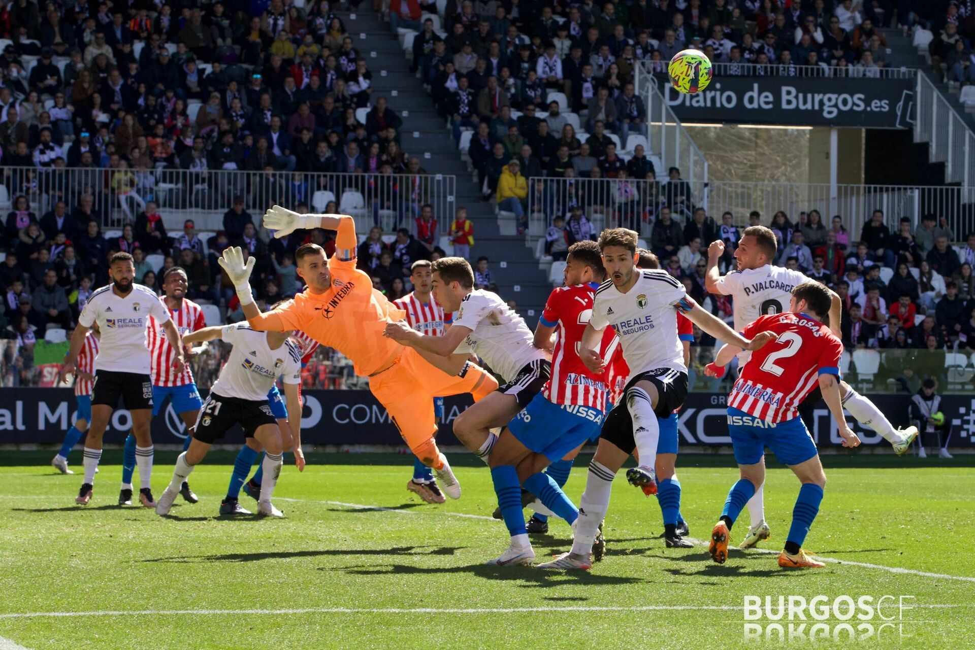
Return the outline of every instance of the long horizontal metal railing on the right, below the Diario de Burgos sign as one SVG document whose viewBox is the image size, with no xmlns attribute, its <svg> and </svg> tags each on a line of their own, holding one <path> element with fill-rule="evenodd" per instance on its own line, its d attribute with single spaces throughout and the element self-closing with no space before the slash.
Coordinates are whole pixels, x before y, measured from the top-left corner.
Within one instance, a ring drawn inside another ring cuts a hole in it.
<svg viewBox="0 0 975 650">
<path fill-rule="evenodd" d="M 765 225 L 778 210 L 793 223 L 801 211 L 819 210 L 827 226 L 839 214 L 851 240 L 860 237 L 863 224 L 878 209 L 883 210 L 891 232 L 897 231 L 902 216 L 911 217 L 917 227 L 920 217 L 928 213 L 947 218 L 956 241 L 975 231 L 975 210 L 965 202 L 969 190 L 954 186 L 837 185 L 833 194 L 829 183 L 719 180 L 701 188 L 683 181 L 533 177 L 528 188 L 530 238 L 543 237 L 552 219 L 565 216 L 574 206 L 582 209 L 596 234 L 603 228 L 625 226 L 647 238 L 664 207 L 682 225 L 698 207 L 719 222 L 722 212 L 730 211 L 738 226 L 748 222 L 752 210 L 761 213 Z"/>
</svg>

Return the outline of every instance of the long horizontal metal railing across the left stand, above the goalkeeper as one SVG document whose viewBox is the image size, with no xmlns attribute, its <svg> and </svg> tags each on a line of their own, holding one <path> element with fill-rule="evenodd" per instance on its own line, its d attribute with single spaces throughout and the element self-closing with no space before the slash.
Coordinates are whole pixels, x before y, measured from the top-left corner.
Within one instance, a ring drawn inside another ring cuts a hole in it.
<svg viewBox="0 0 975 650">
<path fill-rule="evenodd" d="M 311 212 L 325 212 L 333 201 L 329 210 L 355 216 L 360 232 L 372 225 L 388 232 L 410 228 L 421 207 L 430 204 L 439 230 L 447 232 L 455 187 L 455 176 L 439 173 L 5 168 L 0 170 L 0 213 L 14 210 L 22 195 L 40 219 L 58 201 L 64 201 L 70 211 L 83 196 L 91 195 L 103 228 L 132 223 L 151 201 L 169 228 L 181 228 L 183 219 L 194 219 L 199 230 L 221 230 L 223 213 L 234 197 L 244 199 L 245 210 L 258 225 L 264 210 L 274 204 L 294 209 L 304 203 Z"/>
</svg>

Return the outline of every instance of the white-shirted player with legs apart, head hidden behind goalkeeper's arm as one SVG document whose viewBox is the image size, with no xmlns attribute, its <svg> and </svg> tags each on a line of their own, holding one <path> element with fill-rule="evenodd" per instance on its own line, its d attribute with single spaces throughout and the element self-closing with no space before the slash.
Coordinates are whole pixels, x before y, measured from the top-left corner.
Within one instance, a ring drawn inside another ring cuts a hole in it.
<svg viewBox="0 0 975 650">
<path fill-rule="evenodd" d="M 257 515 L 284 516 L 271 504 L 271 496 L 281 473 L 284 444 L 278 422 L 267 401 L 267 392 L 278 376 L 285 385 L 285 398 L 291 410 L 289 426 L 294 443 L 294 462 L 304 470 L 301 453 L 301 357 L 297 346 L 288 339 L 291 332 L 256 331 L 246 323 L 204 327 L 187 335 L 197 343 L 219 338 L 234 346 L 230 358 L 220 369 L 210 396 L 200 409 L 189 448 L 176 458 L 173 480 L 160 495 L 156 514 L 166 516 L 176 500 L 179 487 L 201 463 L 210 447 L 227 431 L 239 424 L 244 435 L 260 442 L 264 448 L 264 477 L 260 483 Z"/>
</svg>

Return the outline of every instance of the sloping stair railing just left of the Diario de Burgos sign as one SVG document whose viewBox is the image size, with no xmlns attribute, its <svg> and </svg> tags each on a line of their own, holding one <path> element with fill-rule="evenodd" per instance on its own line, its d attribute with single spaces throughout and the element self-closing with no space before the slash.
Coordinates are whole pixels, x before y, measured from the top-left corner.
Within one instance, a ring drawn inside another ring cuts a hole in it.
<svg viewBox="0 0 975 650">
<path fill-rule="evenodd" d="M 660 93 L 653 61 L 641 61 L 636 66 L 635 86 L 646 106 L 649 152 L 659 157 L 664 167 L 657 170 L 657 177 L 665 178 L 667 170 L 676 167 L 693 188 L 703 188 L 708 182 L 708 161 Z"/>
</svg>

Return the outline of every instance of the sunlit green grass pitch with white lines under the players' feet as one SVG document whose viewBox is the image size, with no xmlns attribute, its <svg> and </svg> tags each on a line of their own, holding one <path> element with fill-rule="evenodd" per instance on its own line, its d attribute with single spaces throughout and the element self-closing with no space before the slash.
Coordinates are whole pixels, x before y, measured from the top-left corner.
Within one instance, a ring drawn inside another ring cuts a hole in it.
<svg viewBox="0 0 975 650">
<path fill-rule="evenodd" d="M 666 549 L 656 500 L 619 476 L 606 558 L 571 574 L 483 563 L 508 536 L 489 519 L 490 476 L 469 454 L 451 454 L 464 492 L 442 506 L 406 491 L 408 456 L 311 454 L 303 475 L 282 473 L 283 520 L 216 516 L 229 452 L 193 473 L 200 503 L 178 500 L 167 519 L 115 506 L 120 452 L 106 452 L 87 508 L 73 502 L 81 477 L 56 474 L 50 457 L 0 461 L 0 648 L 734 648 L 754 645 L 743 640 L 748 595 L 913 596 L 915 609 L 888 610 L 896 630 L 844 646 L 963 648 L 975 631 L 975 456 L 826 456 L 826 498 L 805 546 L 839 562 L 803 572 L 770 553 L 732 551 L 716 565 L 703 546 Z M 71 460 L 80 470 L 80 453 Z M 157 495 L 174 460 L 156 456 Z M 566 484 L 576 502 L 586 463 Z M 707 539 L 733 461 L 684 455 L 679 465 L 691 537 Z M 770 464 L 765 549 L 781 549 L 797 490 Z M 533 543 L 538 561 L 567 550 L 568 526 L 554 520 Z"/>
</svg>

